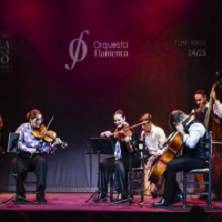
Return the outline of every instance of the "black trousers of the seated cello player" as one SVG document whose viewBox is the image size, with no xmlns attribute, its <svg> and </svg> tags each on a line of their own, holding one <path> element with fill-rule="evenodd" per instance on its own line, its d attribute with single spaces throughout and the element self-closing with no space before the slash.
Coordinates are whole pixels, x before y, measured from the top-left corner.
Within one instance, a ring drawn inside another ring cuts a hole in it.
<svg viewBox="0 0 222 222">
<path fill-rule="evenodd" d="M 174 202 L 178 191 L 178 184 L 176 182 L 176 172 L 189 171 L 195 168 L 203 168 L 204 162 L 200 159 L 194 159 L 190 157 L 178 157 L 169 162 L 165 177 L 165 188 L 163 197 L 168 204 Z"/>
</svg>

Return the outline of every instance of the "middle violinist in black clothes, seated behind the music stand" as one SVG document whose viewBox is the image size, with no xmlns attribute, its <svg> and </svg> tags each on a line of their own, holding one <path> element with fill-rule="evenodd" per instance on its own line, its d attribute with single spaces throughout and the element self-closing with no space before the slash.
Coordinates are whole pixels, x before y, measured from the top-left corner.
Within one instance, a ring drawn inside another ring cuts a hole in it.
<svg viewBox="0 0 222 222">
<path fill-rule="evenodd" d="M 99 195 L 94 201 L 104 202 L 107 200 L 108 183 L 114 173 L 114 188 L 119 193 L 116 203 L 127 201 L 127 171 L 129 167 L 129 155 L 133 152 L 131 144 L 131 131 L 124 132 L 128 128 L 125 114 L 122 110 L 117 110 L 113 114 L 113 122 L 116 129 L 114 132 L 104 131 L 100 134 L 102 138 L 112 138 L 114 140 L 114 157 L 104 159 L 99 164 L 98 188 Z M 121 135 L 121 132 L 124 132 Z M 120 134 L 119 134 L 120 132 Z M 122 137 L 123 136 L 123 137 Z"/>
</svg>

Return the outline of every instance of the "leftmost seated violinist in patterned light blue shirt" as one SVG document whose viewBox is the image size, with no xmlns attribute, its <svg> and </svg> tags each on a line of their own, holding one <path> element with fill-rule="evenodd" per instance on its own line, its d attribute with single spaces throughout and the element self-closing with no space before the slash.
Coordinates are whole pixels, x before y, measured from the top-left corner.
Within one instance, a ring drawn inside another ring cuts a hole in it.
<svg viewBox="0 0 222 222">
<path fill-rule="evenodd" d="M 33 131 L 40 128 L 43 116 L 40 110 L 32 109 L 26 114 L 28 122 L 22 123 L 16 133 L 18 139 L 18 155 L 15 161 L 16 178 L 16 202 L 26 203 L 24 180 L 29 171 L 34 171 L 37 178 L 36 202 L 46 204 L 45 189 L 47 178 L 47 161 L 45 154 L 53 151 L 61 140 L 55 139 L 54 143 L 36 139 Z"/>
</svg>

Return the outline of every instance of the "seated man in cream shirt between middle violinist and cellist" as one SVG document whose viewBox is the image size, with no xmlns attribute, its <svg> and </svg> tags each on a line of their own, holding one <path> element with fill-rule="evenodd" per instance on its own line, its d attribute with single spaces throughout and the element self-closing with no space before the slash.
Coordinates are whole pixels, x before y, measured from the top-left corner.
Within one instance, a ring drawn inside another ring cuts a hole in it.
<svg viewBox="0 0 222 222">
<path fill-rule="evenodd" d="M 158 189 L 154 183 L 149 181 L 149 175 L 155 160 L 164 151 L 163 143 L 166 141 L 166 136 L 163 129 L 152 122 L 150 113 L 144 113 L 140 118 L 140 122 L 144 122 L 140 140 L 144 143 L 144 153 L 147 153 L 145 155 L 144 194 L 152 195 L 155 198 Z"/>
</svg>

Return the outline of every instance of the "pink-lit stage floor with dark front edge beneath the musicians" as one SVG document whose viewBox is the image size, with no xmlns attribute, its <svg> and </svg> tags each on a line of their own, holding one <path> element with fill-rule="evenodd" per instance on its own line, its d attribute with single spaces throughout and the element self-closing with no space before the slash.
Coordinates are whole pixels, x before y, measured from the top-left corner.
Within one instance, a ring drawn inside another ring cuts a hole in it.
<svg viewBox="0 0 222 222">
<path fill-rule="evenodd" d="M 27 199 L 33 204 L 16 204 L 14 193 L 1 193 L 1 221 L 187 221 L 198 218 L 203 221 L 221 221 L 222 202 L 214 201 L 209 209 L 203 200 L 195 197 L 188 199 L 186 209 L 182 203 L 171 207 L 153 208 L 151 203 L 158 201 L 145 197 L 144 205 L 139 204 L 140 197 L 135 196 L 132 204 L 113 205 L 110 202 L 86 202 L 91 193 L 47 193 L 47 205 L 34 204 L 35 195 L 28 194 Z M 11 200 L 10 200 L 11 199 Z"/>
</svg>

